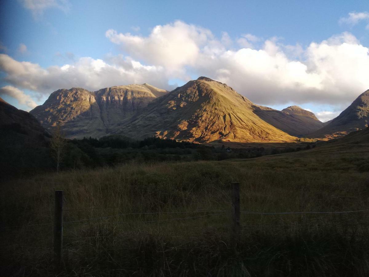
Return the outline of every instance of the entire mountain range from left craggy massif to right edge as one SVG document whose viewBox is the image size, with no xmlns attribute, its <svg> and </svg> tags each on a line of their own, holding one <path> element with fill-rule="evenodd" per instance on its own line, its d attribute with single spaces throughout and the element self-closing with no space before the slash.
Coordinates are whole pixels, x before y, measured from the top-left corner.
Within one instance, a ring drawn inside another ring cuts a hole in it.
<svg viewBox="0 0 369 277">
<path fill-rule="evenodd" d="M 122 134 L 208 143 L 291 142 L 330 138 L 368 126 L 369 90 L 330 122 L 298 106 L 282 111 L 252 103 L 224 83 L 207 77 L 171 92 L 148 84 L 90 92 L 59 89 L 31 110 L 46 130 L 60 124 L 68 138 Z"/>
</svg>

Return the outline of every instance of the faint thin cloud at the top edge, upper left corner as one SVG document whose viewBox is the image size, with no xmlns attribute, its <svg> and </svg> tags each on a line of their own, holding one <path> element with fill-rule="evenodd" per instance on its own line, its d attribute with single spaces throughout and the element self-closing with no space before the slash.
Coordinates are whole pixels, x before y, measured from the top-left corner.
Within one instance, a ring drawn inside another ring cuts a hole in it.
<svg viewBox="0 0 369 277">
<path fill-rule="evenodd" d="M 69 11 L 70 3 L 68 0 L 20 0 L 23 7 L 30 10 L 32 16 L 38 19 L 45 10 L 49 8 L 58 8 L 64 12 Z"/>
</svg>

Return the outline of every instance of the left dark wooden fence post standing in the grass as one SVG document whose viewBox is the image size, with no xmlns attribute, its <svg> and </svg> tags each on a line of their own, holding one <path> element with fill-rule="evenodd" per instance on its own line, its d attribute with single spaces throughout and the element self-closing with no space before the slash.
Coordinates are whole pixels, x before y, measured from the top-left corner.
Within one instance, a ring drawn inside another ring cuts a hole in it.
<svg viewBox="0 0 369 277">
<path fill-rule="evenodd" d="M 63 191 L 55 191 L 54 254 L 56 264 L 61 264 L 63 248 Z"/>
</svg>

